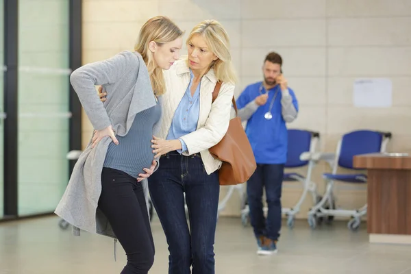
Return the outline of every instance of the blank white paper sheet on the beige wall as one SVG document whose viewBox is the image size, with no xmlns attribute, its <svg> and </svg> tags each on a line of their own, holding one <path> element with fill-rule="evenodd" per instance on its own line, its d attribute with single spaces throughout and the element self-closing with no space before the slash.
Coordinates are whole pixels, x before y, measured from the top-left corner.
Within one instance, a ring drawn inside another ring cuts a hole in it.
<svg viewBox="0 0 411 274">
<path fill-rule="evenodd" d="M 393 104 L 393 84 L 390 79 L 356 79 L 353 103 L 357 108 L 390 108 Z"/>
</svg>

